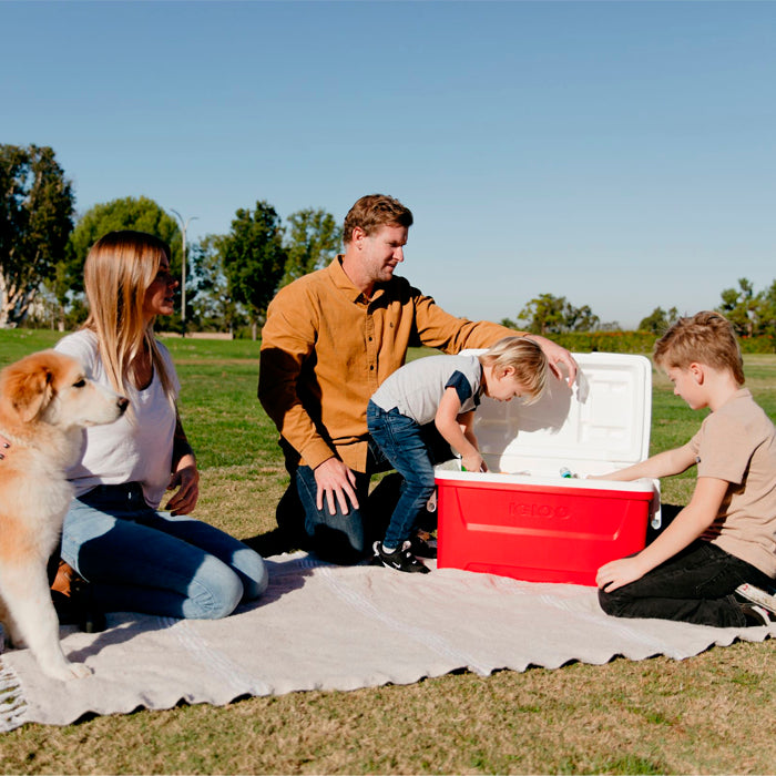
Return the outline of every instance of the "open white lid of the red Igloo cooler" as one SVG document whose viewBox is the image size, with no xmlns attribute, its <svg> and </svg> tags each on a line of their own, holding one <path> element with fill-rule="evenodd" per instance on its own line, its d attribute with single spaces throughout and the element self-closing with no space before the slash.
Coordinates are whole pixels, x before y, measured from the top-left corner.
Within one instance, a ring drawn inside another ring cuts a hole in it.
<svg viewBox="0 0 776 776">
<path fill-rule="evenodd" d="M 480 354 L 483 350 L 469 350 Z M 573 354 L 573 388 L 550 377 L 533 405 L 487 397 L 474 412 L 486 460 L 504 472 L 558 473 L 559 466 L 596 473 L 644 460 L 650 451 L 652 365 L 644 356 Z"/>
</svg>

